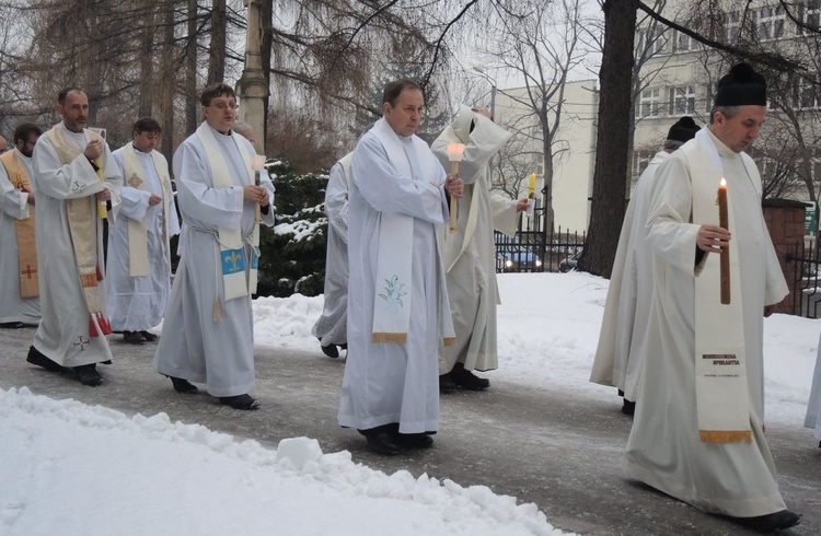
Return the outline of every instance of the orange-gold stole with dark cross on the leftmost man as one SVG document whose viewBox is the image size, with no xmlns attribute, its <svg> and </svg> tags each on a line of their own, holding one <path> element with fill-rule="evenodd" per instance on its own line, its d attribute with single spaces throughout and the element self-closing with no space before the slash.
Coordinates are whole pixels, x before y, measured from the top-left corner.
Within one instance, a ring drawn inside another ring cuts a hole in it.
<svg viewBox="0 0 821 536">
<path fill-rule="evenodd" d="M 5 166 L 9 180 L 19 190 L 31 191 L 28 175 L 25 166 L 18 159 L 14 151 L 9 151 L 0 156 L 0 162 Z M 34 238 L 34 206 L 28 210 L 32 215 L 25 220 L 15 221 L 18 235 L 18 266 L 20 273 L 20 298 L 36 298 L 39 295 L 37 282 L 37 243 Z"/>
</svg>

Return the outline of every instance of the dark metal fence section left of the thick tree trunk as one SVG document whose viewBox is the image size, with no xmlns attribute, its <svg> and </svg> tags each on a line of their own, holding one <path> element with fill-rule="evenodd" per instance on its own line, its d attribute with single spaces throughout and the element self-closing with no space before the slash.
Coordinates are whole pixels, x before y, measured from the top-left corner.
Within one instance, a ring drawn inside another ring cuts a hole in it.
<svg viewBox="0 0 821 536">
<path fill-rule="evenodd" d="M 585 248 L 585 233 L 544 230 L 544 209 L 519 220 L 514 236 L 494 233 L 497 272 L 569 271 Z"/>
</svg>

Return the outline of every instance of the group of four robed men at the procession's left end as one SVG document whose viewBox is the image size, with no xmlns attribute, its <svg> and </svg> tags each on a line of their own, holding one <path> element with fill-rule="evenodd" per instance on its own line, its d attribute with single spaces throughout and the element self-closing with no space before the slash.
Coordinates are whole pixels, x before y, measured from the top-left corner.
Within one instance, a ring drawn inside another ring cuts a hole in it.
<svg viewBox="0 0 821 536">
<path fill-rule="evenodd" d="M 139 119 L 132 141 L 111 152 L 88 128 L 88 96 L 71 86 L 57 98 L 61 123 L 45 135 L 32 124 L 15 130 L 0 166 L 0 321 L 37 326 L 27 362 L 96 386 L 96 365 L 112 362 L 105 336 L 154 341 L 150 329 L 164 318 L 154 365 L 177 392 L 196 393 L 190 382 L 201 382 L 221 404 L 258 407 L 251 295 L 259 224 L 274 223 L 274 186 L 232 130 L 233 90 L 212 84 L 200 104 L 205 121 L 175 154 L 182 228 L 154 119 Z"/>
</svg>

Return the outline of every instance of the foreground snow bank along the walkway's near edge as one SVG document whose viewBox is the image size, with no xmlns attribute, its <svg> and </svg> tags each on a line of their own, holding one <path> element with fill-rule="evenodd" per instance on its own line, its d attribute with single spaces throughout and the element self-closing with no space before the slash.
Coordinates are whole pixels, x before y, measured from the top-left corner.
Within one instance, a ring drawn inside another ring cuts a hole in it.
<svg viewBox="0 0 821 536">
<path fill-rule="evenodd" d="M 0 533 L 557 535 L 534 504 L 286 440 L 0 389 Z M 8 463 L 14 461 L 14 463 Z"/>
</svg>

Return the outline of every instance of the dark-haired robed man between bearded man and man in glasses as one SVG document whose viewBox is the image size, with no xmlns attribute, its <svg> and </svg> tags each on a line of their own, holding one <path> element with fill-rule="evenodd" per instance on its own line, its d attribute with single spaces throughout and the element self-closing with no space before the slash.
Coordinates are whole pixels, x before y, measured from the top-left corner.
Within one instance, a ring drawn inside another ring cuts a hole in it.
<svg viewBox="0 0 821 536">
<path fill-rule="evenodd" d="M 171 174 L 155 151 L 160 124 L 134 124 L 134 140 L 112 155 L 123 174 L 123 203 L 108 230 L 106 305 L 112 330 L 129 343 L 157 340 L 171 293 L 171 236 L 180 233 Z"/>
</svg>

